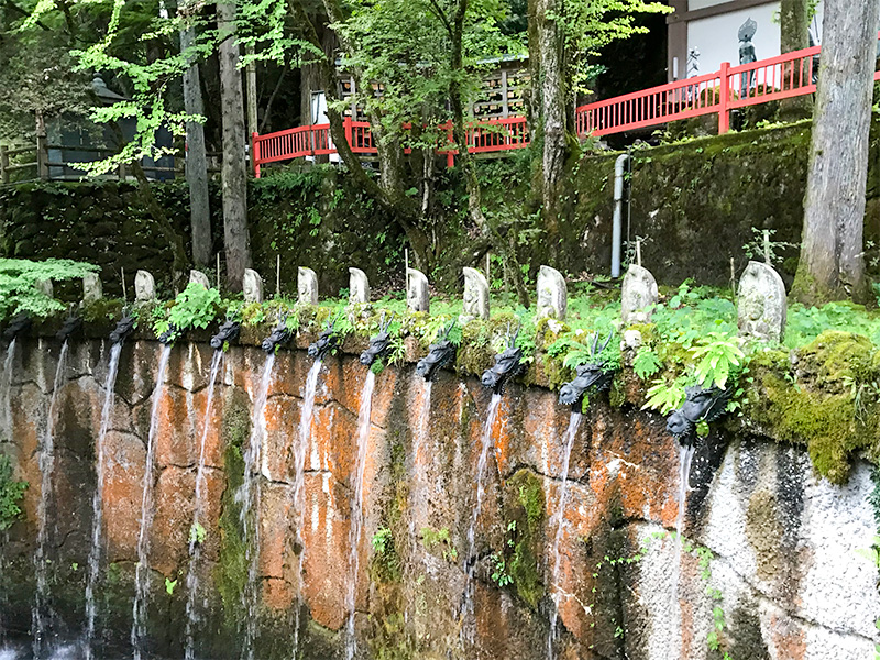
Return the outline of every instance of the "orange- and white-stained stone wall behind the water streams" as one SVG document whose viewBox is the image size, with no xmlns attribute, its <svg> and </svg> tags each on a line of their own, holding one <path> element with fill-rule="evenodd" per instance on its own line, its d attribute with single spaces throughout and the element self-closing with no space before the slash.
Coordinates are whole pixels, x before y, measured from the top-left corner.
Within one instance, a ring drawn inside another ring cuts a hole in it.
<svg viewBox="0 0 880 660">
<path fill-rule="evenodd" d="M 99 612 L 108 649 L 124 644 L 130 626 L 160 350 L 158 344 L 144 341 L 123 348 L 106 439 L 106 581 Z M 20 348 L 10 395 L 11 438 L 7 433 L 0 442 L 0 451 L 13 458 L 16 475 L 31 484 L 23 503 L 25 518 L 10 530 L 0 553 L 4 562 L 0 586 L 7 600 L 3 622 L 13 636 L 24 635 L 30 624 L 30 557 L 41 495 L 38 446 L 57 353 L 53 340 L 28 340 Z M 237 517 L 224 516 L 224 507 L 232 506 L 233 499 L 230 457 L 242 440 L 248 442 L 254 419 L 250 402 L 256 396 L 265 354 L 253 346 L 229 350 L 213 410 L 206 420 L 210 361 L 207 344 L 175 346 L 158 403 L 148 554 L 151 648 L 157 657 L 180 657 L 183 648 L 188 536 L 202 433 L 207 537 L 202 563 L 196 569 L 205 587 L 197 606 L 201 615 L 197 649 L 200 657 L 237 658 L 239 653 L 241 574 L 235 566 L 241 568 L 243 556 L 234 543 L 240 537 Z M 322 366 L 311 437 L 305 448 L 305 487 L 301 502 L 296 502 L 294 457 L 310 366 L 305 351 L 280 350 L 265 409 L 263 465 L 271 479 L 260 474 L 261 465 L 255 477 L 260 484 L 261 659 L 290 657 L 300 598 L 304 657 L 331 658 L 344 646 L 350 498 L 367 370 L 344 354 L 328 358 Z M 58 629 L 82 626 L 96 483 L 94 444 L 106 370 L 106 345 L 76 342 L 58 393 L 54 492 L 48 507 L 52 598 Z M 552 607 L 547 585 L 556 537 L 551 517 L 561 499 L 562 439 L 570 413 L 558 405 L 554 393 L 517 384 L 505 389 L 492 430 L 494 452 L 486 466 L 475 552 L 466 557 L 490 393 L 475 378 L 462 381 L 443 372 L 431 385 L 429 400 L 426 394 L 426 384 L 413 365 L 385 369 L 376 378 L 364 471 L 365 525 L 359 546 L 355 620 L 361 652 L 399 658 L 546 658 Z M 714 658 L 705 642 L 715 605 L 706 596 L 708 584 L 724 593 L 727 628 L 722 640 L 736 650 L 734 658 L 855 658 L 870 647 L 876 635 L 867 627 L 870 616 L 861 620 L 853 614 L 849 624 L 835 623 L 820 602 L 834 600 L 821 594 L 834 592 L 836 583 L 825 588 L 811 573 L 827 554 L 828 541 L 813 519 L 820 512 L 858 508 L 848 528 L 850 544 L 862 542 L 860 535 L 868 534 L 865 520 L 870 519 L 870 510 L 851 504 L 860 502 L 868 487 L 867 468 L 856 471 L 849 491 L 835 492 L 811 476 L 800 450 L 752 440 L 735 442 L 715 468 L 717 473 L 710 470 L 694 484 L 685 518 L 686 536 L 716 556 L 706 579 L 698 558 L 686 548 L 674 563 L 675 543 L 667 532 L 674 529 L 678 515 L 679 449 L 666 433 L 664 420 L 631 407 L 613 408 L 605 397 L 594 397 L 570 461 L 556 586 L 560 594 L 557 657 Z M 524 507 L 530 496 L 543 507 L 531 522 Z M 825 503 L 825 508 L 816 508 L 815 503 Z M 300 517 L 301 548 L 295 542 Z M 384 553 L 371 542 L 377 532 L 389 539 Z M 300 553 L 305 553 L 301 578 Z M 631 560 L 637 553 L 636 561 L 616 561 Z M 531 556 L 531 562 L 515 565 L 522 556 Z M 505 562 L 505 571 L 520 576 L 519 584 L 497 584 L 499 561 Z M 846 561 L 854 562 L 848 575 L 859 585 L 876 576 L 876 570 L 870 573 L 849 554 Z M 476 578 L 476 620 L 473 644 L 465 644 L 461 630 L 470 622 L 462 622 L 461 612 L 471 565 Z M 828 572 L 828 580 L 846 583 L 844 573 L 833 573 Z M 524 588 L 527 579 L 537 584 L 534 602 Z M 173 593 L 165 588 L 166 580 L 177 581 Z M 875 593 L 865 585 L 856 590 L 861 601 Z M 840 596 L 827 606 L 846 609 L 849 601 Z M 843 651 L 829 656 L 820 652 L 823 648 Z M 807 654 L 810 649 L 813 656 Z M 856 654 L 847 654 L 850 649 Z M 388 656 L 389 650 L 396 654 Z"/>
</svg>

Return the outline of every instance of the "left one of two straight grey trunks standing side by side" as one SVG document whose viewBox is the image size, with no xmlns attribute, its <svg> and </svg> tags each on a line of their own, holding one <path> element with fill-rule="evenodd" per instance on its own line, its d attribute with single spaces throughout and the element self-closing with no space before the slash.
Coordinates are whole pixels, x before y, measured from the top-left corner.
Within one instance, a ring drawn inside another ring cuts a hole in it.
<svg viewBox="0 0 880 660">
<path fill-rule="evenodd" d="M 180 31 L 180 51 L 196 41 L 195 28 Z M 184 72 L 184 109 L 187 114 L 205 114 L 201 99 L 199 65 L 194 62 Z M 205 127 L 197 121 L 186 123 L 186 182 L 189 186 L 189 218 L 193 233 L 193 261 L 198 266 L 211 265 L 211 209 L 208 197 L 208 156 Z"/>
</svg>

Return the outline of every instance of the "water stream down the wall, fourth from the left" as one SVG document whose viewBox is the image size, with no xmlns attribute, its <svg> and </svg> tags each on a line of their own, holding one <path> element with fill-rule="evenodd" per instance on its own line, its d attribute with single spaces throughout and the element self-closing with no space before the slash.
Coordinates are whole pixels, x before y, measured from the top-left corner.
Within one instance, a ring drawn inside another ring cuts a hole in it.
<svg viewBox="0 0 880 660">
<path fill-rule="evenodd" d="M 141 646 L 146 637 L 146 598 L 150 592 L 150 527 L 153 524 L 153 466 L 156 460 L 156 433 L 158 410 L 165 386 L 165 372 L 172 344 L 162 346 L 158 359 L 156 386 L 153 388 L 153 406 L 150 411 L 150 431 L 146 436 L 146 462 L 141 494 L 141 529 L 138 532 L 138 566 L 134 572 L 134 605 L 132 606 L 131 647 L 134 660 L 141 660 Z"/>
</svg>

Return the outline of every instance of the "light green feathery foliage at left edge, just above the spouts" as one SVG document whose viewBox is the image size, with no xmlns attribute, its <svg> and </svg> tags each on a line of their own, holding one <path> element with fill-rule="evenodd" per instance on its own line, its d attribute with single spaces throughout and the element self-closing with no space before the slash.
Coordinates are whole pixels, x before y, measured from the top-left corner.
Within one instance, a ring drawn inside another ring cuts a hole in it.
<svg viewBox="0 0 880 660">
<path fill-rule="evenodd" d="M 37 289 L 38 283 L 79 279 L 98 270 L 69 258 L 0 258 L 0 320 L 19 312 L 47 317 L 64 311 L 62 302 Z"/>
</svg>

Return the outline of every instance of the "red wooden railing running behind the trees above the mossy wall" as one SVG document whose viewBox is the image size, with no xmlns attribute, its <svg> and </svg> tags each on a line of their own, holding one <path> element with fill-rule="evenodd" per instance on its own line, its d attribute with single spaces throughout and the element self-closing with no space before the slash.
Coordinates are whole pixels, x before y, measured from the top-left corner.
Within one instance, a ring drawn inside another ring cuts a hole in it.
<svg viewBox="0 0 880 660">
<path fill-rule="evenodd" d="M 730 128 L 730 111 L 758 106 L 816 91 L 816 57 L 821 46 L 785 53 L 732 67 L 723 63 L 714 74 L 675 80 L 642 91 L 581 106 L 575 110 L 578 135 L 610 135 L 637 129 L 659 127 L 670 121 L 704 114 L 718 116 L 718 132 Z M 875 74 L 880 80 L 880 72 Z M 439 127 L 451 144 L 452 125 Z M 345 119 L 345 139 L 355 154 L 377 153 L 370 123 Z M 289 161 L 304 156 L 337 153 L 330 138 L 330 124 L 288 129 L 266 135 L 253 134 L 254 173 L 266 163 Z M 525 117 L 492 119 L 471 124 L 468 129 L 470 153 L 492 153 L 529 145 Z M 439 146 L 451 167 L 454 147 Z"/>
</svg>

